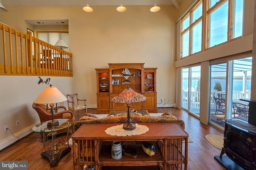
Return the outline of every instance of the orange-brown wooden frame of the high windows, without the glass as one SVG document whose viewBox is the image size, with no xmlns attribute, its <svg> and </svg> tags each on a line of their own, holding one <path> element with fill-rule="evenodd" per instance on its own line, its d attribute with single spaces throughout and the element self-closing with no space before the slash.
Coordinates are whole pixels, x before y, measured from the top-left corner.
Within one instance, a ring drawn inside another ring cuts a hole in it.
<svg viewBox="0 0 256 170">
<path fill-rule="evenodd" d="M 228 2 L 228 28 L 227 28 L 227 41 L 224 41 L 220 44 L 216 44 L 213 45 L 212 47 L 210 47 L 210 14 L 212 12 L 214 12 L 216 9 L 218 9 L 222 4 Z M 235 37 L 235 2 L 236 0 L 219 0 L 216 4 L 214 4 L 212 7 L 210 7 L 210 0 L 199 0 L 198 2 L 196 2 L 189 10 L 188 12 L 186 12 L 181 18 L 180 18 L 180 59 L 183 59 L 185 57 L 189 57 L 191 55 L 194 55 L 196 53 L 200 53 L 202 51 L 205 51 L 207 49 L 211 49 L 214 48 L 218 45 L 222 45 L 224 43 L 228 43 L 230 41 L 233 41 L 234 39 L 238 39 L 241 38 L 242 35 Z M 202 3 L 202 16 L 200 18 L 198 18 L 196 21 L 193 21 L 192 18 L 192 14 L 193 12 L 196 10 L 196 8 L 198 6 L 200 6 L 200 4 Z M 244 3 L 244 0 L 242 0 L 242 3 Z M 244 11 L 242 11 L 242 14 L 244 15 Z M 182 28 L 182 24 L 183 21 L 186 20 L 187 17 L 190 17 L 190 25 L 183 30 Z M 196 53 L 192 53 L 192 28 L 194 27 L 194 25 L 198 24 L 200 21 L 202 21 L 202 36 L 201 36 L 201 51 L 198 51 Z M 239 28 L 239 27 L 238 27 Z M 188 55 L 186 55 L 185 57 L 183 56 L 182 52 L 183 52 L 183 40 L 182 40 L 182 36 L 188 31 L 190 31 L 190 35 L 189 35 L 189 48 L 188 48 Z M 241 27 L 242 29 L 242 27 Z M 234 38 L 233 38 L 234 37 Z"/>
</svg>

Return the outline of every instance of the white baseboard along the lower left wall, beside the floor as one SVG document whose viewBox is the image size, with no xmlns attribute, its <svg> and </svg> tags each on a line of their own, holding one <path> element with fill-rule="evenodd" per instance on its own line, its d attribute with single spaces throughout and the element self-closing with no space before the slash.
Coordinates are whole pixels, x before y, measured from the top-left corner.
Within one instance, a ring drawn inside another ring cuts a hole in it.
<svg viewBox="0 0 256 170">
<path fill-rule="evenodd" d="M 15 143 L 17 141 L 17 138 L 16 137 L 19 137 L 19 140 L 22 139 L 23 137 L 29 135 L 30 133 L 32 133 L 32 127 L 37 125 L 38 123 L 18 132 L 18 133 L 15 133 L 14 136 L 10 136 L 6 139 L 4 139 L 3 141 L 0 142 L 0 150 L 3 150 L 5 149 L 6 147 L 12 145 L 13 143 Z M 8 131 L 8 129 L 7 129 Z M 11 133 L 11 132 L 10 132 Z"/>
</svg>

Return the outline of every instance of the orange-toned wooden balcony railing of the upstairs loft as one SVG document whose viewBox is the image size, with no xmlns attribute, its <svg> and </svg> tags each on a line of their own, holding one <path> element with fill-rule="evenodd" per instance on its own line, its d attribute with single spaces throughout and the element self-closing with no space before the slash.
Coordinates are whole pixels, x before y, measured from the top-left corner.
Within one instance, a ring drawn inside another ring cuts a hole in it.
<svg viewBox="0 0 256 170">
<path fill-rule="evenodd" d="M 73 76 L 72 53 L 3 23 L 0 31 L 0 75 Z"/>
</svg>

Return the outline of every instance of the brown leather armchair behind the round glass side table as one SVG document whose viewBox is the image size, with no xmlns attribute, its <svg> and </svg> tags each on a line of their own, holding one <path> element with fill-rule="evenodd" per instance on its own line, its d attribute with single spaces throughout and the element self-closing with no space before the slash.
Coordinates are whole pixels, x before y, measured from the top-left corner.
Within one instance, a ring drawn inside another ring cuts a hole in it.
<svg viewBox="0 0 256 170">
<path fill-rule="evenodd" d="M 36 112 L 39 115 L 40 122 L 43 123 L 48 120 L 52 120 L 52 113 L 50 113 L 50 109 L 46 110 L 45 104 L 32 104 L 33 109 L 36 110 Z M 58 111 L 58 109 L 64 109 L 63 111 Z M 74 119 L 74 115 L 72 111 L 67 110 L 65 106 L 58 106 L 54 107 L 55 114 L 54 119 Z M 72 132 L 74 132 L 74 129 L 72 128 Z"/>
</svg>

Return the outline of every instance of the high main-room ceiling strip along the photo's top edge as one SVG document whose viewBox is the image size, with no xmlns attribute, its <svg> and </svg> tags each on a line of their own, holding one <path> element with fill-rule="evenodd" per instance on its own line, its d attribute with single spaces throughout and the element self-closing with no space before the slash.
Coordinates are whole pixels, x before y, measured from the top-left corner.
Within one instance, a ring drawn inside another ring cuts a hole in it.
<svg viewBox="0 0 256 170">
<path fill-rule="evenodd" d="M 182 0 L 2 0 L 3 6 L 76 6 L 86 5 L 174 5 Z"/>
</svg>

